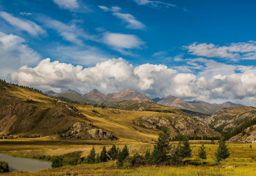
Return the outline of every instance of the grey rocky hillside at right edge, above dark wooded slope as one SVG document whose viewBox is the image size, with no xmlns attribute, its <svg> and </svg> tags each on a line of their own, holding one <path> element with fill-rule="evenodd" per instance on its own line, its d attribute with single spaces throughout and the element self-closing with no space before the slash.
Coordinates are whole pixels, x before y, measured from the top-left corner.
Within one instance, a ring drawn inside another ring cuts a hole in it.
<svg viewBox="0 0 256 176">
<path fill-rule="evenodd" d="M 220 132 L 228 132 L 244 121 L 256 117 L 256 108 L 239 106 L 223 108 L 205 119 L 205 122 Z"/>
</svg>

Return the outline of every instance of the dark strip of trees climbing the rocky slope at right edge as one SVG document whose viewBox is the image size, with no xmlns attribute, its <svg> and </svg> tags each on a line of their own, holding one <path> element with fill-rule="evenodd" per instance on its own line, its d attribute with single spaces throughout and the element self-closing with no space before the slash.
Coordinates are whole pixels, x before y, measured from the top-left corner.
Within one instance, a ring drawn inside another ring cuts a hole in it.
<svg viewBox="0 0 256 176">
<path fill-rule="evenodd" d="M 245 129 L 248 127 L 253 127 L 253 125 L 256 124 L 256 118 L 254 119 L 249 119 L 248 121 L 244 121 L 243 124 L 241 124 L 240 126 L 238 126 L 237 128 L 234 128 L 230 133 L 228 133 L 227 135 L 225 135 L 225 139 L 228 140 L 231 137 L 238 135 L 239 133 L 242 133 L 242 135 L 245 135 Z"/>
</svg>

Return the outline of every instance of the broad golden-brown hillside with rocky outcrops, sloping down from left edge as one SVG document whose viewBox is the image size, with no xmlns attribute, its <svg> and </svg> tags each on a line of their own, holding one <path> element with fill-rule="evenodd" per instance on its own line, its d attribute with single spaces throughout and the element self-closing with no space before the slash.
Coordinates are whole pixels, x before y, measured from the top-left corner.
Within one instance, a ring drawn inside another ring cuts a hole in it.
<svg viewBox="0 0 256 176">
<path fill-rule="evenodd" d="M 117 137 L 120 140 L 151 141 L 156 139 L 163 125 L 170 128 L 172 136 L 218 135 L 202 120 L 150 101 L 123 100 L 129 102 L 124 106 L 129 110 L 99 108 L 67 103 L 3 81 L 0 81 L 0 92 L 0 135 L 46 136 L 59 133 L 68 139 Z M 148 123 L 156 128 L 145 125 Z"/>
</svg>

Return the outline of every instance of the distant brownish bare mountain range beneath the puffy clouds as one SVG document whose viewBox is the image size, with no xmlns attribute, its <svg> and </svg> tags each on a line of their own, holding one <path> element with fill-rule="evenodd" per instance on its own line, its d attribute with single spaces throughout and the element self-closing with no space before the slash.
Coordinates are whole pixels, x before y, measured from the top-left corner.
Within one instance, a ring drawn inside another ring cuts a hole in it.
<svg viewBox="0 0 256 176">
<path fill-rule="evenodd" d="M 147 95 L 130 89 L 116 93 L 109 93 L 107 95 L 102 94 L 102 92 L 96 89 L 91 90 L 91 92 L 88 92 L 85 95 L 82 95 L 78 92 L 75 92 L 75 90 L 70 89 L 65 90 L 61 93 L 56 93 L 53 91 L 47 91 L 45 93 L 47 95 L 58 97 L 63 100 L 77 101 L 86 104 L 104 104 L 104 106 L 109 107 L 113 107 L 113 104 L 116 104 L 116 102 L 121 100 L 151 101 L 163 106 L 179 108 L 181 110 L 190 110 L 205 115 L 212 115 L 213 113 L 216 113 L 222 108 L 243 106 L 241 104 L 234 104 L 230 101 L 227 101 L 223 104 L 210 104 L 208 102 L 199 100 L 184 101 L 183 99 L 179 97 L 174 97 L 172 95 L 163 98 L 157 97 L 154 99 L 150 99 L 149 97 L 147 97 Z"/>
</svg>

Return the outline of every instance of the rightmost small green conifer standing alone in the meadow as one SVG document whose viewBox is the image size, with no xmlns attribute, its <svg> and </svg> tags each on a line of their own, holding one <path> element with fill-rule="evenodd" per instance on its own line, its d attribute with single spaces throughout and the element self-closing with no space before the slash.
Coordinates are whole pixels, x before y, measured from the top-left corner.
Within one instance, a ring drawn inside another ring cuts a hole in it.
<svg viewBox="0 0 256 176">
<path fill-rule="evenodd" d="M 217 149 L 217 153 L 215 153 L 215 157 L 217 162 L 223 162 L 223 160 L 227 159 L 229 157 L 230 153 L 229 150 L 226 146 L 226 142 L 223 139 L 223 137 L 221 137 L 221 139 L 219 139 L 219 147 Z"/>
</svg>

